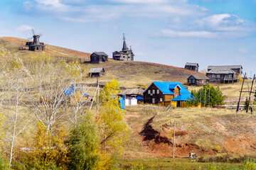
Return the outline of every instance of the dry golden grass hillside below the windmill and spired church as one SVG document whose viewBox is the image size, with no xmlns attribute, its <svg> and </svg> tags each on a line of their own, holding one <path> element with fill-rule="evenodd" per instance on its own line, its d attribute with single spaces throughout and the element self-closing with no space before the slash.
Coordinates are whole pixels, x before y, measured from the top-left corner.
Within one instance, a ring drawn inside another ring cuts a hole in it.
<svg viewBox="0 0 256 170">
<path fill-rule="evenodd" d="M 8 50 L 12 54 L 16 53 L 22 57 L 28 57 L 31 51 L 18 50 L 18 47 L 26 45 L 26 41 L 21 38 L 0 38 L 0 47 Z M 79 60 L 86 72 L 92 67 L 104 67 L 105 76 L 100 77 L 100 81 L 110 81 L 113 77 L 119 81 L 120 86 L 124 87 L 146 87 L 151 81 L 180 81 L 186 83 L 186 79 L 191 74 L 201 74 L 191 70 L 173 67 L 164 64 L 150 62 L 123 62 L 109 60 L 101 64 L 90 64 L 90 53 L 78 52 L 63 47 L 46 45 L 46 54 L 53 57 L 62 57 L 66 60 Z M 96 81 L 96 79 L 95 79 Z"/>
</svg>

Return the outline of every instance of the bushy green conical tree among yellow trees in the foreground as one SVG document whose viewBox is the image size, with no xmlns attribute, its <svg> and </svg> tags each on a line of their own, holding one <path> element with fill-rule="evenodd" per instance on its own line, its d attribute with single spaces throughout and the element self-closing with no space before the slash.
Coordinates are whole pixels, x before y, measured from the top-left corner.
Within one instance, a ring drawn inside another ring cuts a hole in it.
<svg viewBox="0 0 256 170">
<path fill-rule="evenodd" d="M 94 169 L 100 160 L 97 125 L 91 113 L 84 115 L 70 132 L 69 169 Z"/>
</svg>

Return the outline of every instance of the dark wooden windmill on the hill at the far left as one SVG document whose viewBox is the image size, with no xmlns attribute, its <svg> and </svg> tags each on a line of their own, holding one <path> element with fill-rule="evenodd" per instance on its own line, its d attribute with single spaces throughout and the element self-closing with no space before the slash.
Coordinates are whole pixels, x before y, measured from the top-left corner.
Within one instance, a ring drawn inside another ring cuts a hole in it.
<svg viewBox="0 0 256 170">
<path fill-rule="evenodd" d="M 42 36 L 42 34 L 35 34 L 35 30 L 31 30 L 33 33 L 33 37 L 28 38 L 28 40 L 32 40 L 33 42 L 26 42 L 26 45 L 28 45 L 28 50 L 31 51 L 43 51 L 44 50 L 44 43 L 39 41 L 39 38 Z"/>
</svg>

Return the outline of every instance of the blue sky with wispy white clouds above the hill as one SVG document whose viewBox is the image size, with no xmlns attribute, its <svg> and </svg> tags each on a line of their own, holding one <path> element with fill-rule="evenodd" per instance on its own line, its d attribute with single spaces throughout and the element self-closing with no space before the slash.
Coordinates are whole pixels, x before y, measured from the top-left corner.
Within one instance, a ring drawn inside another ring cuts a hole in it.
<svg viewBox="0 0 256 170">
<path fill-rule="evenodd" d="M 1 0 L 0 37 L 82 52 L 122 50 L 135 61 L 184 67 L 241 64 L 256 74 L 256 0 Z"/>
</svg>

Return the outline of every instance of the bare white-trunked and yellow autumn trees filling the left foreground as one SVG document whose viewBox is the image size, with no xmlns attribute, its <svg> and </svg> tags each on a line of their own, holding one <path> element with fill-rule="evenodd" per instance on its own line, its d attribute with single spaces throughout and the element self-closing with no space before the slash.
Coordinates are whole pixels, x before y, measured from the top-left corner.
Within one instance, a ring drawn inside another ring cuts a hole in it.
<svg viewBox="0 0 256 170">
<path fill-rule="evenodd" d="M 78 62 L 0 52 L 0 169 L 111 169 L 129 136 L 115 79 L 98 109 L 65 89 L 85 81 Z M 68 101 L 68 102 L 67 102 Z M 32 132 L 32 133 L 31 133 Z M 3 141 L 3 142 L 2 142 Z M 4 145 L 1 145 L 4 143 Z"/>
</svg>

